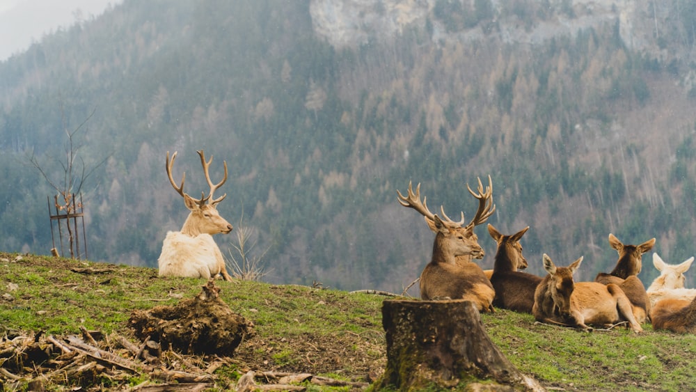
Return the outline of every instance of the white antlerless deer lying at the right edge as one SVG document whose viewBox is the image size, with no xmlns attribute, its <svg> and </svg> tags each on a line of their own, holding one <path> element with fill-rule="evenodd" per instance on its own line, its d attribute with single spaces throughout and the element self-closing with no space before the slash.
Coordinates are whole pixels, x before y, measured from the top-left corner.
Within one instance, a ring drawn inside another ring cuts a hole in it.
<svg viewBox="0 0 696 392">
<path fill-rule="evenodd" d="M 664 262 L 657 253 L 653 253 L 653 265 L 660 272 L 647 290 L 650 305 L 655 306 L 661 299 L 684 299 L 691 301 L 696 297 L 696 289 L 684 288 L 684 272 L 688 271 L 694 258 L 688 258 L 681 264 L 670 265 Z"/>
</svg>

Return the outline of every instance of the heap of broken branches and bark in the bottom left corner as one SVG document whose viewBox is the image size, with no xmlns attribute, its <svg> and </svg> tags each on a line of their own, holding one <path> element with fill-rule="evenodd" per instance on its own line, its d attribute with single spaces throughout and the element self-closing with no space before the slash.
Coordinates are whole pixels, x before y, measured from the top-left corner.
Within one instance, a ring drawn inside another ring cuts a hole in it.
<svg viewBox="0 0 696 392">
<path fill-rule="evenodd" d="M 99 331 L 82 329 L 81 336 L 5 336 L 0 340 L 0 385 L 5 390 L 42 391 L 50 385 L 70 385 L 90 389 L 94 386 L 127 385 L 134 377 L 148 375 L 162 388 L 169 383 L 187 384 L 187 390 L 213 385 L 212 372 L 225 363 L 216 359 L 200 367 L 173 351 L 163 351 L 148 340 L 142 345 L 125 336 L 102 336 Z M 142 385 L 141 387 L 144 387 Z"/>
</svg>

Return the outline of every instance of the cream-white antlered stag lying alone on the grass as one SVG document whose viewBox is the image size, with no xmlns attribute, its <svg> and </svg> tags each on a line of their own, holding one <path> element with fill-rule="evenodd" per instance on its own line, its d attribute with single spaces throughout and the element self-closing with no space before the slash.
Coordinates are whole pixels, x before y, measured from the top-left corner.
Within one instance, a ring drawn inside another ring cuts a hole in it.
<svg viewBox="0 0 696 392">
<path fill-rule="evenodd" d="M 191 210 L 189 217 L 184 222 L 180 231 L 170 231 L 164 238 L 162 251 L 159 255 L 159 276 L 182 276 L 187 278 L 209 279 L 221 275 L 226 281 L 231 281 L 232 276 L 228 274 L 225 259 L 213 240 L 212 235 L 217 233 L 230 233 L 232 225 L 226 221 L 216 210 L 218 203 L 227 196 L 224 194 L 219 198 L 213 198 L 213 193 L 221 187 L 227 180 L 227 162 L 225 166 L 225 176 L 221 182 L 213 184 L 208 173 L 210 162 L 206 162 L 203 150 L 197 151 L 200 156 L 200 164 L 203 165 L 205 180 L 210 187 L 210 193 L 205 196 L 203 192 L 200 198 L 192 198 L 184 193 L 184 180 L 186 173 L 182 175 L 181 185 L 177 186 L 172 177 L 172 166 L 176 159 L 176 152 L 169 160 L 167 152 L 166 171 L 172 187 L 184 198 L 184 204 Z M 208 203 L 206 203 L 208 202 Z"/>
</svg>

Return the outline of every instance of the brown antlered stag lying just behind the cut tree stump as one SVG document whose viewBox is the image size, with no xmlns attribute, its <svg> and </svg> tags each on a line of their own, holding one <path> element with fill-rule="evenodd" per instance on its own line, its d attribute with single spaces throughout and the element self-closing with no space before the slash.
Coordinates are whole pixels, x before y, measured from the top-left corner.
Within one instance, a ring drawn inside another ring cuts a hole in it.
<svg viewBox="0 0 696 392">
<path fill-rule="evenodd" d="M 432 258 L 420 274 L 420 297 L 426 301 L 464 299 L 473 302 L 481 312 L 493 312 L 493 285 L 483 274 L 481 267 L 470 261 L 470 258 L 482 258 L 485 254 L 473 228 L 477 222 L 488 219 L 495 210 L 494 205 L 491 207 L 493 191 L 489 187 L 487 192 L 482 192 L 482 185 L 479 195 L 474 194 L 470 188 L 469 191 L 479 198 L 480 204 L 477 214 L 466 226 L 463 226 L 464 212 L 461 212 L 461 220 L 456 222 L 445 214 L 443 206 L 440 207 L 443 218 L 430 212 L 426 198 L 420 200 L 420 184 L 414 192 L 413 185 L 409 182 L 408 196 L 404 196 L 398 189 L 397 194 L 399 203 L 420 212 L 435 233 Z M 457 260 L 458 258 L 460 259 Z"/>
</svg>

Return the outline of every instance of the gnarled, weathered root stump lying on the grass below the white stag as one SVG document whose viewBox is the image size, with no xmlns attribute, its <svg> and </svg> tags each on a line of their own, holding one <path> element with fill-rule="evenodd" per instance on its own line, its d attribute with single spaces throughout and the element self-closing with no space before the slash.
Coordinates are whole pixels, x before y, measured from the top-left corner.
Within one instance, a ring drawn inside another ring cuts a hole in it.
<svg viewBox="0 0 696 392">
<path fill-rule="evenodd" d="M 186 354 L 231 356 L 242 339 L 253 335 L 253 322 L 233 312 L 210 279 L 193 299 L 177 306 L 133 311 L 129 326 L 141 340 L 155 340 Z"/>
</svg>

